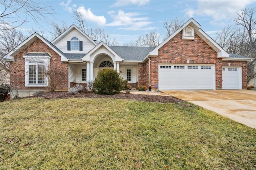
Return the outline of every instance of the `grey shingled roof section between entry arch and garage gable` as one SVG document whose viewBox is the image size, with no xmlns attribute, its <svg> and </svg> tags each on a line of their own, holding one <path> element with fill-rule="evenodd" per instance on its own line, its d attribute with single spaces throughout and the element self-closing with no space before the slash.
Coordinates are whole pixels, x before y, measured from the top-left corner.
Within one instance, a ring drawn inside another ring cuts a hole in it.
<svg viewBox="0 0 256 170">
<path fill-rule="evenodd" d="M 120 57 L 127 61 L 142 61 L 155 47 L 122 47 L 109 46 Z"/>
</svg>

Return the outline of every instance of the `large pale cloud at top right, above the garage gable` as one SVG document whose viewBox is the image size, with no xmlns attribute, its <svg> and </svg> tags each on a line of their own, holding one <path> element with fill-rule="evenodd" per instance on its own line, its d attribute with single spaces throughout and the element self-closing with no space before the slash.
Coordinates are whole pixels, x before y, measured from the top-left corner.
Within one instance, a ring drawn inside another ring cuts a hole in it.
<svg viewBox="0 0 256 170">
<path fill-rule="evenodd" d="M 255 1 L 247 0 L 198 0 L 198 9 L 187 8 L 184 10 L 186 15 L 193 17 L 208 16 L 213 18 L 210 22 L 212 25 L 224 24 L 220 23 L 223 20 L 234 19 L 237 16 L 237 12 L 242 8 L 245 8 L 248 4 L 255 3 Z"/>
</svg>

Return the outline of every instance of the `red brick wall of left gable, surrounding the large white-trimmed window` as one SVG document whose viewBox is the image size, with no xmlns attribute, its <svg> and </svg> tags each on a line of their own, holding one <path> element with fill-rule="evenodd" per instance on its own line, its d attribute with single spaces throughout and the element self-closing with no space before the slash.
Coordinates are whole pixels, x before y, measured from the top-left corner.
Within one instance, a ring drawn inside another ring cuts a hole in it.
<svg viewBox="0 0 256 170">
<path fill-rule="evenodd" d="M 66 72 L 66 78 L 57 85 L 57 89 L 68 89 L 68 63 L 60 61 L 60 55 L 52 50 L 39 38 L 28 45 L 14 57 L 10 62 L 10 85 L 12 89 L 45 89 L 45 87 L 25 87 L 25 59 L 26 53 L 49 53 L 51 55 L 50 65 L 55 65 Z"/>
</svg>

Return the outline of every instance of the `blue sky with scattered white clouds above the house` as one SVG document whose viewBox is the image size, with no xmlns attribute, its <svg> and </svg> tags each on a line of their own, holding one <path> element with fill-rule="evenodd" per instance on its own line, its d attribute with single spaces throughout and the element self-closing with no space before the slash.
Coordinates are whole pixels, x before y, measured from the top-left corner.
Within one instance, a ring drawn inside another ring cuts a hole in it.
<svg viewBox="0 0 256 170">
<path fill-rule="evenodd" d="M 245 0 L 49 0 L 58 15 L 49 20 L 74 24 L 72 11 L 81 12 L 89 27 L 103 28 L 119 45 L 134 41 L 139 35 L 156 30 L 164 36 L 164 20 L 193 17 L 214 38 L 215 33 L 236 18 L 242 8 L 256 7 L 256 1 Z M 36 28 L 32 22 L 23 27 Z M 46 25 L 50 30 L 50 25 Z M 46 32 L 46 38 L 51 36 Z"/>
</svg>

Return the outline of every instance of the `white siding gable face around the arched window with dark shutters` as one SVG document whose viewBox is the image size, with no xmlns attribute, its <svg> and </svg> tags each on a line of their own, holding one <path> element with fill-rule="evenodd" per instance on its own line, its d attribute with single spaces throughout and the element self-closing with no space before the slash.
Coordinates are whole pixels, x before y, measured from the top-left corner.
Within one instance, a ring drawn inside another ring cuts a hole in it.
<svg viewBox="0 0 256 170">
<path fill-rule="evenodd" d="M 72 38 L 78 38 L 79 41 L 83 42 L 83 51 L 79 50 L 71 50 L 68 51 L 68 41 L 71 41 Z M 68 35 L 62 38 L 58 43 L 55 44 L 58 49 L 60 49 L 64 53 L 88 53 L 92 48 L 95 47 L 94 43 L 88 40 L 83 34 L 81 34 L 78 30 L 72 30 Z"/>
</svg>

